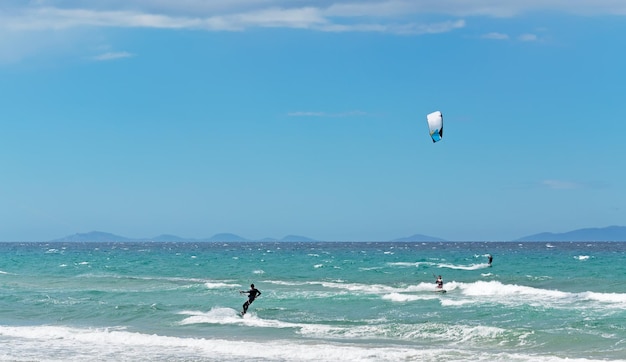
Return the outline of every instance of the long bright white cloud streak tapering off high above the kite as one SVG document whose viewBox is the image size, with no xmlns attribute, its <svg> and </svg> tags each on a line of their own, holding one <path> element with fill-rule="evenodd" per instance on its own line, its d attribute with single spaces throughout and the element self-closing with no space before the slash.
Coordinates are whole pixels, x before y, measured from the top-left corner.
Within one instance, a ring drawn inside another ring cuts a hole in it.
<svg viewBox="0 0 626 362">
<path fill-rule="evenodd" d="M 363 20 L 363 21 L 355 21 Z M 26 8 L 0 16 L 0 29 L 10 31 L 59 30 L 78 27 L 120 27 L 243 31 L 249 28 L 295 28 L 325 32 L 379 32 L 427 34 L 465 26 L 463 20 L 397 22 L 395 19 L 333 17 L 318 7 L 267 8 L 206 14 L 153 13 L 137 10 Z"/>
</svg>

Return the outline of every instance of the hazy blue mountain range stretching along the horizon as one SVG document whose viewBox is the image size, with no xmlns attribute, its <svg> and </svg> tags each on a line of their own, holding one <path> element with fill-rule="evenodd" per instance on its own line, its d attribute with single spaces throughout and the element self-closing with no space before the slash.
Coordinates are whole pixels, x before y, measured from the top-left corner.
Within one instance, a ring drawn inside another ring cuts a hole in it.
<svg viewBox="0 0 626 362">
<path fill-rule="evenodd" d="M 319 241 L 305 236 L 287 235 L 282 239 L 264 238 L 260 240 L 250 240 L 239 235 L 230 233 L 215 234 L 210 238 L 192 239 L 182 238 L 176 235 L 159 235 L 153 238 L 132 239 L 111 233 L 92 231 L 88 233 L 78 233 L 69 235 L 60 239 L 51 240 L 52 242 L 131 242 L 131 241 L 157 241 L 157 242 L 250 242 L 250 241 L 291 241 L 291 242 L 314 242 Z M 447 240 L 415 234 L 402 237 L 390 241 L 395 242 L 444 242 Z M 504 241 L 504 240 L 503 240 Z M 539 233 L 525 236 L 512 241 L 626 241 L 626 226 L 608 226 L 605 228 L 586 228 L 565 233 Z"/>
</svg>

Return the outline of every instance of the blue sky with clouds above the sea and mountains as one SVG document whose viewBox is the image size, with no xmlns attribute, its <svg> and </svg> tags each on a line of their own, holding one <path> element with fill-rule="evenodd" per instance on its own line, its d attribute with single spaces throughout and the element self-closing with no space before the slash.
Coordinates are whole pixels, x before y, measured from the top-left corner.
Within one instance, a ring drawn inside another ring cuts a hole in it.
<svg viewBox="0 0 626 362">
<path fill-rule="evenodd" d="M 609 0 L 3 2 L 0 241 L 626 225 L 625 38 Z"/>
</svg>

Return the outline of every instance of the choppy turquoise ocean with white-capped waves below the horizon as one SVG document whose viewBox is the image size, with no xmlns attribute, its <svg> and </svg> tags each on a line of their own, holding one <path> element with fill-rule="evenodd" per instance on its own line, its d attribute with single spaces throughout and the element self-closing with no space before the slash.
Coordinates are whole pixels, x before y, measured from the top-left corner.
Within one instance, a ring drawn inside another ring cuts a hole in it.
<svg viewBox="0 0 626 362">
<path fill-rule="evenodd" d="M 626 243 L 0 243 L 0 360 L 626 361 Z"/>
</svg>

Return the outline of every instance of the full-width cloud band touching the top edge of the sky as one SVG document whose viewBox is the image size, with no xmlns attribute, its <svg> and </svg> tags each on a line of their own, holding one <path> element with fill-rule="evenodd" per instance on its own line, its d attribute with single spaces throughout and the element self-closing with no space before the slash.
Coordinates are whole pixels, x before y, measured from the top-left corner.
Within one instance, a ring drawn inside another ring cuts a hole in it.
<svg viewBox="0 0 626 362">
<path fill-rule="evenodd" d="M 626 15 L 626 2 L 615 0 L 39 0 L 0 8 L 0 30 L 13 31 L 86 26 L 210 31 L 280 27 L 426 34 L 463 27 L 467 17 L 514 17 L 536 11 Z M 433 16 L 443 20 L 433 22 Z"/>
</svg>

